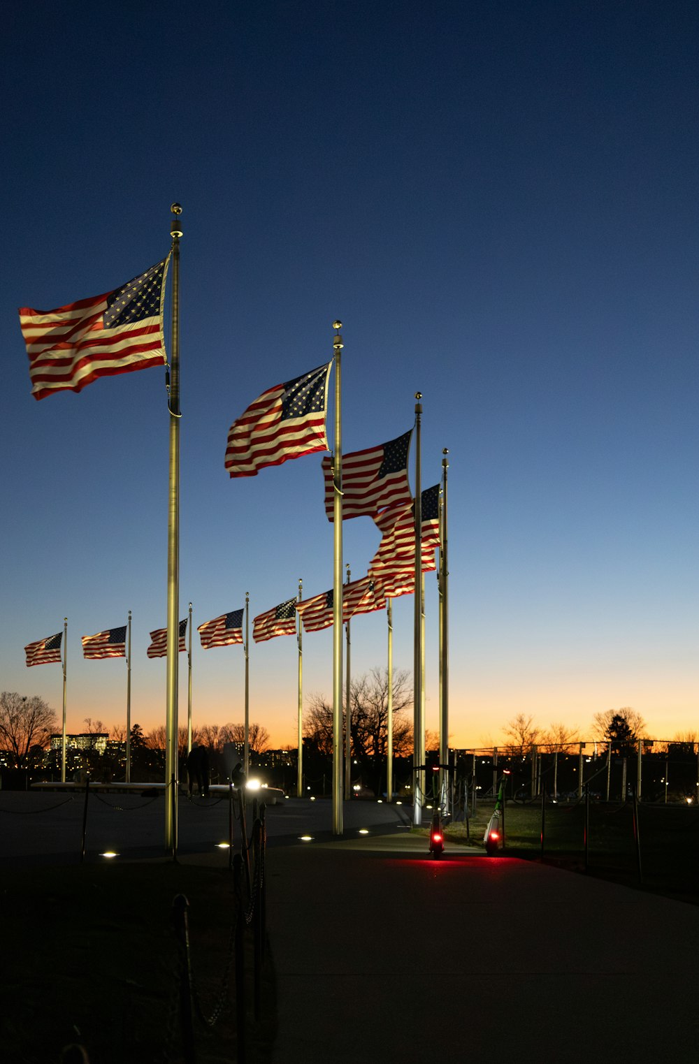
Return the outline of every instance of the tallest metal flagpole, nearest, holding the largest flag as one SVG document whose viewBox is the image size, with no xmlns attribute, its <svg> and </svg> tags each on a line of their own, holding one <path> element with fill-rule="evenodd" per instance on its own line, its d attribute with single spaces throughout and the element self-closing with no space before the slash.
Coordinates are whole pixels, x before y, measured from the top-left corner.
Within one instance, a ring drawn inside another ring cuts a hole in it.
<svg viewBox="0 0 699 1064">
<path fill-rule="evenodd" d="M 165 848 L 177 852 L 178 834 L 178 680 L 180 665 L 180 215 L 172 203 L 172 337 L 168 386 L 170 414 L 167 515 L 167 682 L 165 699 Z M 167 378 L 166 378 L 167 380 Z M 174 780 L 172 793 L 167 791 Z"/>
</svg>

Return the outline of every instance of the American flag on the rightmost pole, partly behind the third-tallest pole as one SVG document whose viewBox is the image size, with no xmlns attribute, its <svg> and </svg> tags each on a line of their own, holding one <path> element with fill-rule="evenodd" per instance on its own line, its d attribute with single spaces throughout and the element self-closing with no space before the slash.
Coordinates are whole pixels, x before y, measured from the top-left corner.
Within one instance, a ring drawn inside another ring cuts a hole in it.
<svg viewBox="0 0 699 1064">
<path fill-rule="evenodd" d="M 422 492 L 421 502 L 421 560 L 422 571 L 428 572 L 436 568 L 434 551 L 439 546 L 439 485 Z M 371 559 L 369 573 L 381 581 L 388 598 L 411 594 L 415 589 L 414 508 L 392 506 L 373 519 L 382 538 Z"/>
</svg>

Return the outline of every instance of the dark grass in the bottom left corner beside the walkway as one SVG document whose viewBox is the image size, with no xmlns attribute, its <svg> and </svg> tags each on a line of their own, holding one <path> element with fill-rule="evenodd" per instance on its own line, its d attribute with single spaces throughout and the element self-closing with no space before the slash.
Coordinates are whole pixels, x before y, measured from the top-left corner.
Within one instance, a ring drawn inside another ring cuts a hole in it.
<svg viewBox="0 0 699 1064">
<path fill-rule="evenodd" d="M 49 1064 L 83 1044 L 90 1064 L 181 1061 L 180 971 L 172 900 L 184 894 L 195 979 L 211 1013 L 229 959 L 235 916 L 228 869 L 174 864 L 3 870 L 0 1046 L 5 1064 Z M 252 945 L 246 935 L 248 1001 Z M 234 968 L 227 1007 L 206 1030 L 195 1020 L 199 1064 L 235 1059 Z M 271 963 L 263 980 L 263 1018 L 250 1011 L 249 1059 L 267 1061 L 274 1034 Z"/>
</svg>

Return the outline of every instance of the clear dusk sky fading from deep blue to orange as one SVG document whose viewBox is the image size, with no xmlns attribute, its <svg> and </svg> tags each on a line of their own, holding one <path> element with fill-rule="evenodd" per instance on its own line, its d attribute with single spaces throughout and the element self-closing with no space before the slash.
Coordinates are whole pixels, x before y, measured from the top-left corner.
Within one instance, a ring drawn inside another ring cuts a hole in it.
<svg viewBox="0 0 699 1064">
<path fill-rule="evenodd" d="M 648 733 L 697 700 L 697 44 L 693 2 L 38 2 L 4 9 L 0 687 L 60 713 L 24 644 L 68 617 L 68 730 L 123 722 L 80 636 L 133 611 L 132 720 L 165 719 L 168 415 L 160 369 L 36 402 L 17 307 L 117 287 L 183 205 L 180 615 L 332 585 L 321 455 L 229 480 L 231 421 L 332 356 L 344 449 L 450 451 L 450 741 L 515 714 Z M 332 378 L 331 378 L 332 381 Z M 331 403 L 332 416 L 332 403 Z M 332 422 L 330 422 L 332 425 Z M 411 472 L 414 478 L 414 472 Z M 379 535 L 345 523 L 366 571 Z M 427 576 L 427 724 L 437 596 Z M 413 600 L 395 605 L 412 668 Z M 385 664 L 385 614 L 352 626 Z M 180 656 L 186 715 L 186 656 Z M 293 637 L 250 651 L 250 716 L 296 745 Z M 240 647 L 195 641 L 194 722 L 243 719 Z M 304 637 L 332 694 L 332 630 Z"/>
</svg>

